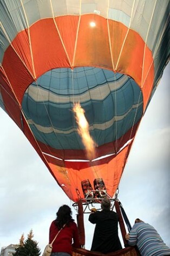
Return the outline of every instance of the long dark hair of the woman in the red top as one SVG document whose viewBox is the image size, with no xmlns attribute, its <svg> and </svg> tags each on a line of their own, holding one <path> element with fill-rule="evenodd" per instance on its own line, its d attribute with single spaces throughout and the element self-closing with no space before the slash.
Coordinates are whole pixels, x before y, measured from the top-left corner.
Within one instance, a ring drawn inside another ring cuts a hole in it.
<svg viewBox="0 0 170 256">
<path fill-rule="evenodd" d="M 55 220 L 55 224 L 56 224 L 58 229 L 61 229 L 64 224 L 69 226 L 69 223 L 74 221 L 73 218 L 72 218 L 71 208 L 66 204 L 62 205 L 58 209 L 56 215 L 57 215 L 57 217 L 56 217 L 56 220 Z"/>
</svg>

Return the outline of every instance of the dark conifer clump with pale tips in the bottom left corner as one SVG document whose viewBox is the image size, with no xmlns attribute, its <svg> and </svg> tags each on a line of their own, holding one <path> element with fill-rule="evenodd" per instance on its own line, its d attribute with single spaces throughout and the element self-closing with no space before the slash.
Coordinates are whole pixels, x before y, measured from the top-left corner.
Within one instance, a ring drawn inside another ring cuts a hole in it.
<svg viewBox="0 0 170 256">
<path fill-rule="evenodd" d="M 13 253 L 14 256 L 39 256 L 41 250 L 38 247 L 38 243 L 33 240 L 34 234 L 32 229 L 27 235 L 27 240 L 24 241 L 24 235 L 22 234 L 19 240 L 19 246 L 16 248 L 16 252 Z"/>
</svg>

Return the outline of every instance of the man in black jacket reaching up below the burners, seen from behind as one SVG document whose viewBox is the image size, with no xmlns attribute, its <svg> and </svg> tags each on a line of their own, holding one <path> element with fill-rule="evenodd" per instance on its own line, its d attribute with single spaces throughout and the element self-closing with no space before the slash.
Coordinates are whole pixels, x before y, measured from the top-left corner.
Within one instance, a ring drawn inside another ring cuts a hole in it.
<svg viewBox="0 0 170 256">
<path fill-rule="evenodd" d="M 109 253 L 122 249 L 118 236 L 118 215 L 110 210 L 110 200 L 104 197 L 102 211 L 91 209 L 89 221 L 96 224 L 91 251 Z"/>
</svg>

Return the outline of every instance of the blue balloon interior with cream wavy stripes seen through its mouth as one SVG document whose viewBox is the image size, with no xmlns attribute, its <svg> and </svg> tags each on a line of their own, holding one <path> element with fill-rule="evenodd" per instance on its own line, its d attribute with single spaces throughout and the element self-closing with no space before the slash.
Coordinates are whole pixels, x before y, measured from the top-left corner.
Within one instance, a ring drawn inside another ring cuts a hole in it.
<svg viewBox="0 0 170 256">
<path fill-rule="evenodd" d="M 97 145 L 91 161 L 117 154 L 133 139 L 143 98 L 131 77 L 98 67 L 55 68 L 29 85 L 22 102 L 25 119 L 44 154 L 89 161 L 73 111 L 78 102 Z"/>
</svg>

